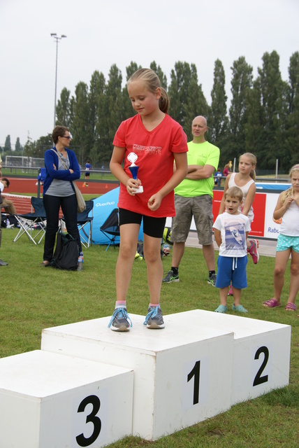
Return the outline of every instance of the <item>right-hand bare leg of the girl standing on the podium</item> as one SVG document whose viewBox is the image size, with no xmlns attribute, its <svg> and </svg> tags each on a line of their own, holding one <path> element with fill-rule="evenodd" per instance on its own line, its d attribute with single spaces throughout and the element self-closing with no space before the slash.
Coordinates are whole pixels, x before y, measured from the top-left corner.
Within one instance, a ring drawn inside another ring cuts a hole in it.
<svg viewBox="0 0 299 448">
<path fill-rule="evenodd" d="M 161 238 L 143 235 L 143 250 L 147 264 L 147 283 L 149 286 L 150 303 L 159 304 L 163 266 L 161 261 Z"/>
</svg>

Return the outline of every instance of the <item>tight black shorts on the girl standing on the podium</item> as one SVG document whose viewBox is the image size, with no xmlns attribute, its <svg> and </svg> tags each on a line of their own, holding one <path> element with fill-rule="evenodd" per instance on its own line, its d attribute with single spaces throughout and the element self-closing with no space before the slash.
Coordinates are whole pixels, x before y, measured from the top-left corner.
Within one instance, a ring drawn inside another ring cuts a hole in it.
<svg viewBox="0 0 299 448">
<path fill-rule="evenodd" d="M 126 209 L 119 209 L 119 225 L 122 224 L 141 224 L 143 219 L 143 233 L 153 238 L 162 238 L 165 228 L 165 218 L 153 218 L 152 216 L 145 216 L 129 211 Z"/>
</svg>

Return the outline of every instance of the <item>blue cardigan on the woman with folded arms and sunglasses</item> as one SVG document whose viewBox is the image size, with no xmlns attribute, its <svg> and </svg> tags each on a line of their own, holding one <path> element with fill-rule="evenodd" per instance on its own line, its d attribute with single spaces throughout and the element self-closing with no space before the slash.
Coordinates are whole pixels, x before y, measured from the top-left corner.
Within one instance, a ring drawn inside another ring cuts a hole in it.
<svg viewBox="0 0 299 448">
<path fill-rule="evenodd" d="M 53 146 L 55 152 L 57 149 Z M 75 153 L 71 149 L 64 148 L 68 153 L 68 160 L 70 161 L 70 169 L 73 169 L 73 174 L 69 172 L 69 169 L 58 169 L 58 155 L 55 154 L 52 149 L 45 151 L 45 180 L 43 181 L 43 196 L 50 187 L 53 179 L 60 179 L 61 181 L 70 181 L 73 187 L 72 181 L 80 179 L 80 167 Z M 56 169 L 54 169 L 55 165 Z"/>
</svg>

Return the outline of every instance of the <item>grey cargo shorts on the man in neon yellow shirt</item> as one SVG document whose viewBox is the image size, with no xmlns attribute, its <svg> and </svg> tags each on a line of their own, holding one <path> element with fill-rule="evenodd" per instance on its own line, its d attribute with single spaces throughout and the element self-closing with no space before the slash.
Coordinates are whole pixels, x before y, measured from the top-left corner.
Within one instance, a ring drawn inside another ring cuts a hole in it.
<svg viewBox="0 0 299 448">
<path fill-rule="evenodd" d="M 171 226 L 171 241 L 187 240 L 192 216 L 196 225 L 198 243 L 209 246 L 213 242 L 212 197 L 210 195 L 183 197 L 175 195 L 175 217 Z"/>
</svg>

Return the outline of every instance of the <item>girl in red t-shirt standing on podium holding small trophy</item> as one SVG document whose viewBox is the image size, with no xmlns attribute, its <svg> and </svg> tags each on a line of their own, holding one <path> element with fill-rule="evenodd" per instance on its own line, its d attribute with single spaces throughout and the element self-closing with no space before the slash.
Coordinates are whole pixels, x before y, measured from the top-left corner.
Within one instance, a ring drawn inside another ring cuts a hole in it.
<svg viewBox="0 0 299 448">
<path fill-rule="evenodd" d="M 147 328 L 164 327 L 159 307 L 163 278 L 161 238 L 166 217 L 175 216 L 173 190 L 187 175 L 187 136 L 182 127 L 167 115 L 168 94 L 161 87 L 156 73 L 151 69 L 136 71 L 129 78 L 127 89 L 137 114 L 119 126 L 110 161 L 110 170 L 120 182 L 117 300 L 108 325 L 115 331 L 128 331 L 132 326 L 126 311 L 126 293 L 142 219 L 150 296 L 144 324 Z M 129 170 L 132 157 L 139 167 L 138 179 L 132 179 Z M 141 185 L 143 193 L 138 193 Z"/>
</svg>

